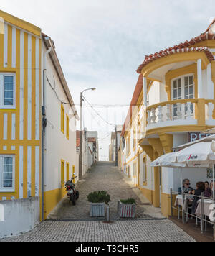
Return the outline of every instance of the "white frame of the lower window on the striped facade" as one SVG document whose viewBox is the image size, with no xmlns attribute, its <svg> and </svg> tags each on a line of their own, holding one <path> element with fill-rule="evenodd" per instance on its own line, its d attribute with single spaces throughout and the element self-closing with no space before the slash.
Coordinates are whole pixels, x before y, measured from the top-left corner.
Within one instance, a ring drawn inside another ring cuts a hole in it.
<svg viewBox="0 0 215 256">
<path fill-rule="evenodd" d="M 13 159 L 13 186 L 12 188 L 4 188 L 4 158 L 11 157 Z M 15 192 L 15 155 L 0 155 L 0 192 Z"/>
</svg>

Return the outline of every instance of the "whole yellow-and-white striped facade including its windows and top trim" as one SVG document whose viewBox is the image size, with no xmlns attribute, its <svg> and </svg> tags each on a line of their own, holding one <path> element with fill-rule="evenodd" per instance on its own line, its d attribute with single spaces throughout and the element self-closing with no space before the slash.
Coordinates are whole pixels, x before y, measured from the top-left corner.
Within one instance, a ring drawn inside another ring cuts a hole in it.
<svg viewBox="0 0 215 256">
<path fill-rule="evenodd" d="M 41 30 L 0 11 L 0 201 L 39 196 Z"/>
</svg>

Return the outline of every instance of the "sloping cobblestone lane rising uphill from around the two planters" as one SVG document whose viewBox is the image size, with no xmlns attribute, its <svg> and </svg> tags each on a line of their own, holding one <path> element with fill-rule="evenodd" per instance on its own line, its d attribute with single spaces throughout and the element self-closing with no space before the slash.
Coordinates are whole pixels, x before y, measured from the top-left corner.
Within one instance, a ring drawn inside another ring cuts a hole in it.
<svg viewBox="0 0 215 256">
<path fill-rule="evenodd" d="M 134 192 L 137 189 L 129 186 L 123 179 L 123 173 L 120 173 L 113 163 L 97 163 L 97 165 L 85 175 L 83 180 L 77 183 L 77 190 L 80 191 L 80 199 L 77 201 L 77 205 L 72 206 L 72 203 L 69 203 L 69 199 L 66 197 L 62 200 L 57 209 L 49 214 L 49 219 L 91 219 L 90 203 L 87 201 L 87 196 L 93 191 L 107 191 L 110 194 L 112 219 L 119 219 L 117 214 L 118 200 L 128 198 L 135 198 L 137 201 L 136 217 L 150 217 L 144 214 L 144 206 L 141 204 L 140 198 L 138 198 Z"/>
</svg>

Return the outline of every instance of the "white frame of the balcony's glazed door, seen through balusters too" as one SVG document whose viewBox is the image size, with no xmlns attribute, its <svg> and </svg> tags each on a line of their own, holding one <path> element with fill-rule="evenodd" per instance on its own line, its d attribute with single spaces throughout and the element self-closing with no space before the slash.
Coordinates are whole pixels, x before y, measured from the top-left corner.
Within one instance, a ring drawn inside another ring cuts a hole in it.
<svg viewBox="0 0 215 256">
<path fill-rule="evenodd" d="M 194 75 L 194 73 L 188 73 L 186 75 L 178 76 L 178 77 L 173 78 L 171 80 L 171 100 L 172 101 L 173 101 L 173 91 L 174 91 L 173 82 L 178 80 L 178 79 L 181 79 L 181 99 L 185 99 L 184 93 L 185 93 L 185 78 L 186 78 L 186 76 L 188 76 L 188 77 L 193 76 L 193 81 L 194 81 L 193 94 L 194 94 L 194 97 L 192 99 L 195 99 L 195 80 L 194 80 L 195 75 Z M 189 99 L 186 99 L 186 100 L 187 100 L 187 102 L 189 101 Z M 173 107 L 172 107 L 172 113 L 173 113 Z M 183 108 L 181 109 L 181 113 L 182 113 L 183 118 L 186 119 L 185 106 L 183 106 Z M 192 115 L 195 115 L 195 107 L 194 107 L 194 113 Z M 173 116 L 173 118 L 175 118 L 175 116 L 173 114 L 172 114 L 172 116 Z"/>
</svg>

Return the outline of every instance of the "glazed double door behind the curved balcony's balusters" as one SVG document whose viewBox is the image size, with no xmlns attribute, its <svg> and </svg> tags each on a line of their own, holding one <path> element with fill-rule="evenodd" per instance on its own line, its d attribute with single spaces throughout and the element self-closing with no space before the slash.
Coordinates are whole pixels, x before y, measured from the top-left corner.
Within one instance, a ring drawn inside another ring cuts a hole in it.
<svg viewBox="0 0 215 256">
<path fill-rule="evenodd" d="M 172 100 L 194 99 L 194 76 L 186 75 L 173 80 L 172 82 Z M 177 116 L 177 104 L 173 106 L 173 117 Z M 186 116 L 188 111 L 187 104 L 181 105 L 181 114 Z M 194 114 L 194 104 L 191 104 L 191 113 Z"/>
</svg>

